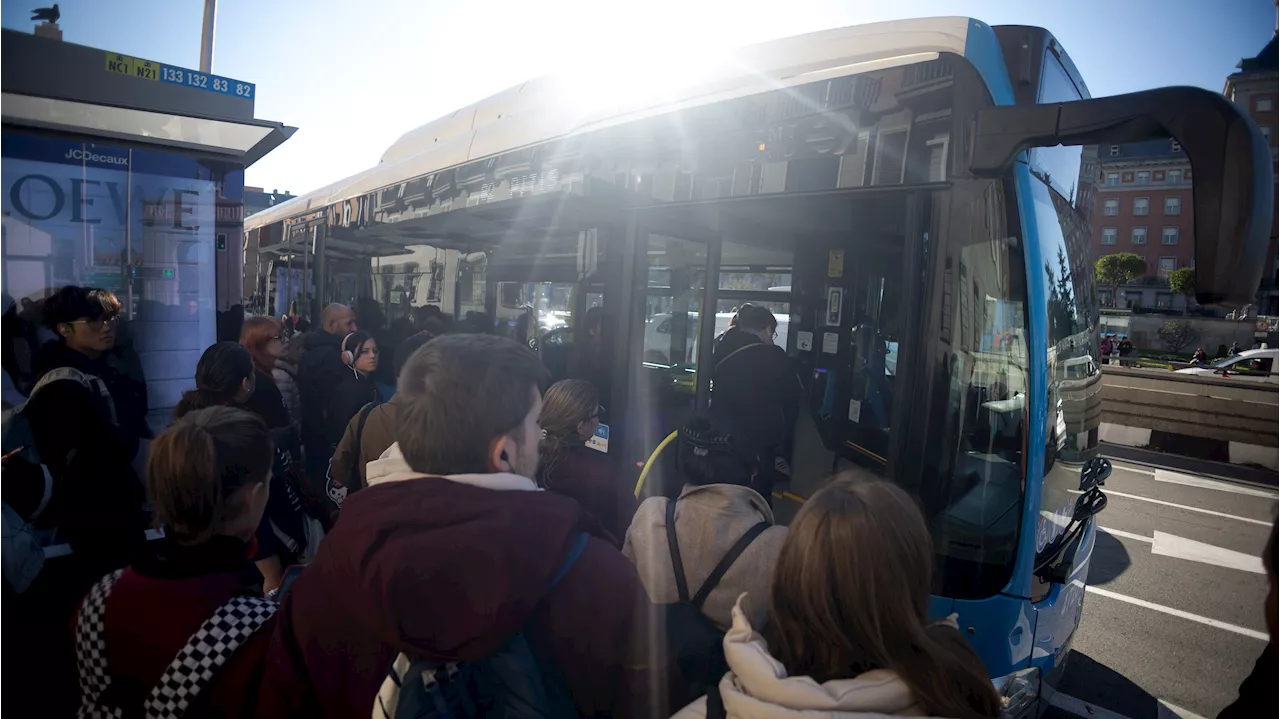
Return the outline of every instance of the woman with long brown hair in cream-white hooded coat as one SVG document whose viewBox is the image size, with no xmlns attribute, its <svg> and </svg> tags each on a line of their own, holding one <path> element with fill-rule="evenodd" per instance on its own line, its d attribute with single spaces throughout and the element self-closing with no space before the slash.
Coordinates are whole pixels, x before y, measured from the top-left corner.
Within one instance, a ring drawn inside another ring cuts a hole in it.
<svg viewBox="0 0 1280 719">
<path fill-rule="evenodd" d="M 740 600 L 724 636 L 728 674 L 676 719 L 1000 715 L 955 619 L 925 617 L 933 544 L 905 491 L 846 472 L 805 503 L 790 530 L 773 573 L 768 638 Z"/>
</svg>

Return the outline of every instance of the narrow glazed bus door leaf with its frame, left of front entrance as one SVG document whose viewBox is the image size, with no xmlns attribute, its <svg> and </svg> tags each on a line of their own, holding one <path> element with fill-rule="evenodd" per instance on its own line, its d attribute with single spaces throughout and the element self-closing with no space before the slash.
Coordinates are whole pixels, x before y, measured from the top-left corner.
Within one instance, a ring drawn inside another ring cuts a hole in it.
<svg viewBox="0 0 1280 719">
<path fill-rule="evenodd" d="M 719 238 L 696 226 L 673 226 L 654 212 L 637 215 L 632 317 L 627 363 L 626 459 L 644 467 L 671 432 L 705 409 L 716 330 Z M 675 448 L 645 472 L 644 494 L 673 495 Z"/>
</svg>

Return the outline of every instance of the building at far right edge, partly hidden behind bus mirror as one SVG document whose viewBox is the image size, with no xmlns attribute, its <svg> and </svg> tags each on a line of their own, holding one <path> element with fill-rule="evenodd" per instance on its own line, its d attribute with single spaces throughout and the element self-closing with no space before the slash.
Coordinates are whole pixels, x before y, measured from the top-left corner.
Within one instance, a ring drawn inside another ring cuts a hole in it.
<svg viewBox="0 0 1280 719">
<path fill-rule="evenodd" d="M 1276 201 L 1275 216 L 1271 219 L 1267 267 L 1258 292 L 1258 313 L 1280 315 L 1280 28 L 1257 56 L 1240 60 L 1236 72 L 1226 78 L 1222 95 L 1243 107 L 1253 122 L 1258 123 L 1258 128 L 1271 145 Z"/>
</svg>

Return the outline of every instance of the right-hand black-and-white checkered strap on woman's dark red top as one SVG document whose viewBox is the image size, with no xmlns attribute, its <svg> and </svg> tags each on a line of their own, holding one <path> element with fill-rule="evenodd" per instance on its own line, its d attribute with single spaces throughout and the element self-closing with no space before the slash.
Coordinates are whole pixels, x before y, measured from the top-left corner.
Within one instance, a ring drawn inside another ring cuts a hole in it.
<svg viewBox="0 0 1280 719">
<path fill-rule="evenodd" d="M 200 691 L 209 684 L 218 669 L 241 647 L 271 615 L 275 604 L 255 596 L 237 596 L 218 608 L 205 623 L 191 635 L 169 668 L 147 696 L 148 719 L 179 719 Z"/>
</svg>

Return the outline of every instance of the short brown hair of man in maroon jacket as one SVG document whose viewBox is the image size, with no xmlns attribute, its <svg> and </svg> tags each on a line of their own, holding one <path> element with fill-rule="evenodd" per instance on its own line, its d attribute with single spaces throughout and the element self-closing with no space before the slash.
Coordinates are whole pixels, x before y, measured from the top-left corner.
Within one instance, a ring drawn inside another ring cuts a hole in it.
<svg viewBox="0 0 1280 719">
<path fill-rule="evenodd" d="M 397 384 L 404 461 L 430 475 L 490 472 L 490 444 L 521 427 L 545 380 L 538 356 L 512 339 L 452 334 L 424 344 Z"/>
</svg>

